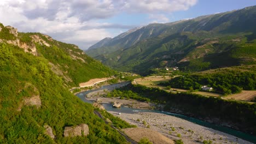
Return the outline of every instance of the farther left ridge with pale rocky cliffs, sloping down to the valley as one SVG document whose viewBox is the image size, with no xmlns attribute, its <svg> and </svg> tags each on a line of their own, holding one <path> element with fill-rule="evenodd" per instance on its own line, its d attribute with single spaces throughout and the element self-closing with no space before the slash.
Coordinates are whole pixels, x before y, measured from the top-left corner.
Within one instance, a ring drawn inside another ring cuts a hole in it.
<svg viewBox="0 0 256 144">
<path fill-rule="evenodd" d="M 51 70 L 59 75 L 67 87 L 78 86 L 90 79 L 109 77 L 115 71 L 95 61 L 73 44 L 56 41 L 40 33 L 11 33 L 10 29 L 0 26 L 0 43 L 19 46 L 24 51 L 48 59 Z"/>
</svg>

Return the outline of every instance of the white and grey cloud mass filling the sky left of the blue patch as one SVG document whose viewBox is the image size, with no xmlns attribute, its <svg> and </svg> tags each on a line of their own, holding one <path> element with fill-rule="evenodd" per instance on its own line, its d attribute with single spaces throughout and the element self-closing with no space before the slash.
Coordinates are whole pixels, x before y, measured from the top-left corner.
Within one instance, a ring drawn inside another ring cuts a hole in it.
<svg viewBox="0 0 256 144">
<path fill-rule="evenodd" d="M 196 2 L 197 0 L 1 0 L 0 22 L 14 26 L 21 32 L 48 34 L 54 39 L 86 49 L 105 37 L 114 37 L 120 31 L 136 27 L 125 25 L 121 21 L 104 22 L 109 17 L 122 13 L 143 13 L 148 15 L 151 22 L 168 22 L 170 13 L 187 10 Z"/>
</svg>

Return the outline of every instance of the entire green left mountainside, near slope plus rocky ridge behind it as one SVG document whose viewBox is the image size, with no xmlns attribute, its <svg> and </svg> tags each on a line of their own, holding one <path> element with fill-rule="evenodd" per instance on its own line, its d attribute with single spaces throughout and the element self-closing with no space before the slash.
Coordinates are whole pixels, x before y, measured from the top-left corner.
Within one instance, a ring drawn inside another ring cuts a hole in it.
<svg viewBox="0 0 256 144">
<path fill-rule="evenodd" d="M 126 143 L 68 91 L 113 73 L 75 45 L 0 24 L 0 143 Z"/>
</svg>

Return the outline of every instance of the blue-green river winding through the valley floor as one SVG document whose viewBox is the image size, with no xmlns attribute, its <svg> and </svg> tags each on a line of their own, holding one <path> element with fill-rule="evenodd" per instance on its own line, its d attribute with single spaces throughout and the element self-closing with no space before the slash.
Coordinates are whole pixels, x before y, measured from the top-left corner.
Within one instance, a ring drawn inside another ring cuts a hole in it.
<svg viewBox="0 0 256 144">
<path fill-rule="evenodd" d="M 77 97 L 79 97 L 81 100 L 85 101 L 86 103 L 92 103 L 93 101 L 87 100 L 85 98 L 85 95 L 87 95 L 87 94 L 89 94 L 91 92 L 95 92 L 95 91 L 99 91 L 99 90 L 103 90 L 103 89 L 108 89 L 108 90 L 112 91 L 115 88 L 126 86 L 127 84 L 129 84 L 129 83 L 128 82 L 121 82 L 121 83 L 115 83 L 115 84 L 112 84 L 112 85 L 102 86 L 101 88 L 92 89 L 92 90 L 89 90 L 89 91 L 78 93 Z M 130 107 L 125 107 L 125 106 L 121 106 L 121 109 L 115 109 L 115 108 L 112 107 L 111 104 L 102 104 L 102 105 L 104 106 L 104 108 L 107 111 L 115 111 L 115 112 L 118 112 L 118 113 L 119 112 L 120 113 L 136 113 L 136 112 L 163 113 L 165 115 L 179 117 L 179 118 L 185 119 L 185 120 L 187 120 L 189 122 L 193 122 L 193 123 L 202 125 L 202 126 L 207 127 L 207 128 L 212 128 L 212 129 L 215 129 L 215 130 L 218 130 L 218 131 L 222 131 L 223 133 L 239 137 L 240 139 L 256 143 L 256 136 L 249 135 L 249 134 L 246 134 L 246 133 L 243 133 L 241 131 L 237 131 L 237 130 L 234 130 L 234 129 L 231 129 L 231 128 L 228 128 L 228 127 L 223 127 L 221 125 L 216 125 L 216 124 L 204 122 L 204 121 L 201 121 L 201 120 L 196 119 L 196 118 L 187 117 L 187 116 L 184 116 L 184 115 L 179 115 L 179 114 L 176 114 L 176 113 L 165 112 L 165 111 L 158 111 L 158 110 L 133 109 L 133 108 L 130 108 Z"/>
</svg>

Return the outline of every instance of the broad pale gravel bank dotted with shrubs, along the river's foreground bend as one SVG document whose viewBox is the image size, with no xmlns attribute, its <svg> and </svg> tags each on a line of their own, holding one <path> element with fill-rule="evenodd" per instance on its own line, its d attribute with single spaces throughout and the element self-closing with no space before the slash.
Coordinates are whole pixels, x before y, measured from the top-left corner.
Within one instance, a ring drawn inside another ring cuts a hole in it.
<svg viewBox="0 0 256 144">
<path fill-rule="evenodd" d="M 170 139 L 182 139 L 184 143 L 251 143 L 221 131 L 203 127 L 184 119 L 155 112 L 121 113 L 108 111 L 130 124 L 158 131 Z M 144 123 L 146 124 L 143 124 Z"/>
</svg>

